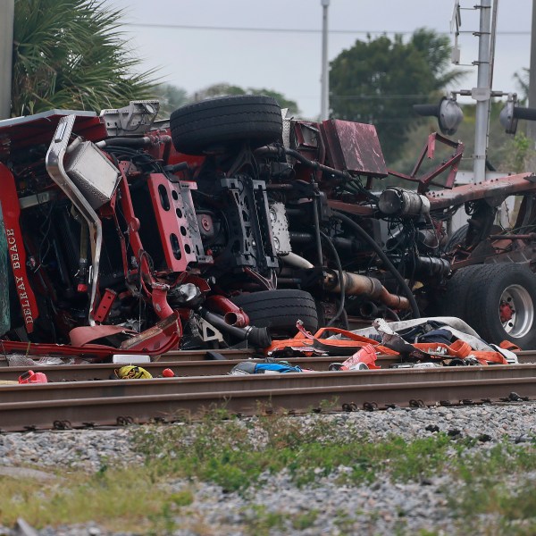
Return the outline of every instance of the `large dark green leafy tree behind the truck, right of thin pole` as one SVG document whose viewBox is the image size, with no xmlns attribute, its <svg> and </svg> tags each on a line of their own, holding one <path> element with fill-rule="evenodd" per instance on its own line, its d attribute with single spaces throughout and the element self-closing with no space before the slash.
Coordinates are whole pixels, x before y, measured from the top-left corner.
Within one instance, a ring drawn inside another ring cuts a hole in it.
<svg viewBox="0 0 536 536">
<path fill-rule="evenodd" d="M 401 153 L 418 116 L 413 105 L 439 102 L 440 90 L 458 80 L 449 71 L 447 37 L 417 29 L 407 43 L 401 35 L 356 44 L 331 62 L 332 116 L 375 125 L 386 160 Z"/>
</svg>

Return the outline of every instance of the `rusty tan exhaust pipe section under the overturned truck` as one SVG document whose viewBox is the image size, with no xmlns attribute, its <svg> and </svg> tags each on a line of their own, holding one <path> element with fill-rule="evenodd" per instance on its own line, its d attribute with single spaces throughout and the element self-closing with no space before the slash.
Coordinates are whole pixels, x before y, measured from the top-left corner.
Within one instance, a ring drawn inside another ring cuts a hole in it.
<svg viewBox="0 0 536 536">
<path fill-rule="evenodd" d="M 342 272 L 342 276 L 345 293 L 348 296 L 371 297 L 392 309 L 409 309 L 411 307 L 407 297 L 391 294 L 380 280 L 374 277 L 352 272 Z M 339 273 L 334 270 L 325 270 L 324 285 L 330 292 L 340 292 Z"/>
</svg>

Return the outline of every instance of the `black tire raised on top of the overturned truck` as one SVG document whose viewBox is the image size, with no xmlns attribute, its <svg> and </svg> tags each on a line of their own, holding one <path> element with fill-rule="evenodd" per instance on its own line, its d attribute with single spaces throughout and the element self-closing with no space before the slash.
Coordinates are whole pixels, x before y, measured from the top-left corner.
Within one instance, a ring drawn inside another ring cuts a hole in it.
<svg viewBox="0 0 536 536">
<path fill-rule="evenodd" d="M 244 141 L 252 147 L 279 141 L 281 107 L 271 96 L 222 96 L 175 110 L 170 128 L 175 148 L 185 155 L 211 149 L 229 150 Z"/>
</svg>

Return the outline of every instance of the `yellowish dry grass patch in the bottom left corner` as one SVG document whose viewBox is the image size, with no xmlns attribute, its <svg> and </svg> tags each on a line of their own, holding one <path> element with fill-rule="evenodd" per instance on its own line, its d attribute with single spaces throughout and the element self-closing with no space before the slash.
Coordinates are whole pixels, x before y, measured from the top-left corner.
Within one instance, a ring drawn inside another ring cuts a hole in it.
<svg viewBox="0 0 536 536">
<path fill-rule="evenodd" d="M 71 472 L 54 482 L 0 477 L 0 519 L 18 517 L 38 528 L 95 521 L 111 530 L 169 534 L 173 514 L 193 501 L 189 490 L 171 493 L 144 467 Z"/>
</svg>

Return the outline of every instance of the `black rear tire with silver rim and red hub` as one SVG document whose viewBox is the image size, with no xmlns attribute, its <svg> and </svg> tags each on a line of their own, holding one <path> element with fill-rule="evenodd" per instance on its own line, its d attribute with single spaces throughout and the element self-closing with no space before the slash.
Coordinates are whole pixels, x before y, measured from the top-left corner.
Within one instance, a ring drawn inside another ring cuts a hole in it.
<svg viewBox="0 0 536 536">
<path fill-rule="evenodd" d="M 521 264 L 481 264 L 471 281 L 466 321 L 482 339 L 536 348 L 536 275 Z"/>
</svg>

